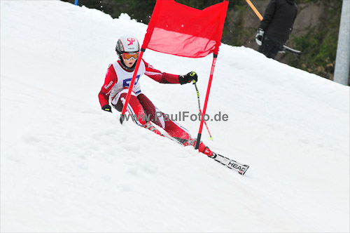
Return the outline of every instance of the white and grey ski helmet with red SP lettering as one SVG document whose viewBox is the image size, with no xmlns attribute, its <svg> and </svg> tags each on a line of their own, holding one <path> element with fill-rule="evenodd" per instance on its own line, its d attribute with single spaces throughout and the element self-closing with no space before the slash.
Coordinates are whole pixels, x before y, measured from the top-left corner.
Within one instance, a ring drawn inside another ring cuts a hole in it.
<svg viewBox="0 0 350 233">
<path fill-rule="evenodd" d="M 123 62 L 123 53 L 138 53 L 140 51 L 139 41 L 135 36 L 125 35 L 118 39 L 116 45 L 116 52 L 118 54 L 118 58 L 123 67 L 127 70 L 134 71 L 136 62 L 132 67 L 127 67 Z"/>
</svg>

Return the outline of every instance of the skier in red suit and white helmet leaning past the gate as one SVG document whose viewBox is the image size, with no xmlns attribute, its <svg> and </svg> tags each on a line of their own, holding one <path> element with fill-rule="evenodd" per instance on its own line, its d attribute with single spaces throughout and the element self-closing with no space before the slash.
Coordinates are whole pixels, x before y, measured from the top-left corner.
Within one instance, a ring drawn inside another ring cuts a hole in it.
<svg viewBox="0 0 350 233">
<path fill-rule="evenodd" d="M 104 85 L 99 92 L 99 102 L 104 111 L 112 112 L 112 105 L 118 112 L 122 112 L 123 104 L 129 91 L 130 81 L 132 80 L 137 59 L 139 58 L 139 50 L 139 41 L 134 36 L 125 35 L 118 39 L 116 45 L 118 60 L 109 65 Z M 195 72 L 189 72 L 185 75 L 175 75 L 160 72 L 142 59 L 139 70 L 137 71 L 134 87 L 132 88 L 130 101 L 127 104 L 127 112 L 129 112 L 137 125 L 147 128 L 158 135 L 162 135 L 150 121 L 146 120 L 146 115 L 151 116 L 151 121 L 163 128 L 172 138 L 184 146 L 192 145 L 194 147 L 197 140 L 191 137 L 186 128 L 183 128 L 176 121 L 171 121 L 169 118 L 165 121 L 164 113 L 162 113 L 162 116 L 157 117 L 160 115 L 160 110 L 153 105 L 153 102 L 144 93 L 141 93 L 139 79 L 141 79 L 143 74 L 146 74 L 161 84 L 181 85 L 188 84 L 193 80 L 197 81 L 197 74 Z M 111 100 L 111 105 L 109 105 L 109 100 Z M 216 154 L 211 152 L 211 149 L 206 147 L 203 142 L 200 142 L 199 151 L 207 154 L 208 157 L 216 157 Z"/>
</svg>

